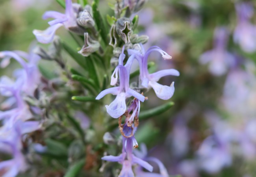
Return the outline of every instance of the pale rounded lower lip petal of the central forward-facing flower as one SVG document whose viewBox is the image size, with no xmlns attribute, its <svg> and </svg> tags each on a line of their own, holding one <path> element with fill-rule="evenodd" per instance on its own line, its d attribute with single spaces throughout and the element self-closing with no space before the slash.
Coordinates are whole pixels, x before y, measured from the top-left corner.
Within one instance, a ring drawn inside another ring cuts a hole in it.
<svg viewBox="0 0 256 177">
<path fill-rule="evenodd" d="M 125 103 L 125 93 L 121 92 L 117 94 L 117 97 L 115 98 L 110 105 L 106 105 L 108 114 L 113 118 L 119 118 L 124 114 L 126 111 L 126 103 Z"/>
</svg>

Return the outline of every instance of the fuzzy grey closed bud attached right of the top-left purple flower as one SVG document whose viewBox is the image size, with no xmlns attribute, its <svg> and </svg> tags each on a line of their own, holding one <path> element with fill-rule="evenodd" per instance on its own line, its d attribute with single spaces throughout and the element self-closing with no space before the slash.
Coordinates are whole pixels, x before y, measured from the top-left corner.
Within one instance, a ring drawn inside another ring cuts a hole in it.
<svg viewBox="0 0 256 177">
<path fill-rule="evenodd" d="M 95 22 L 93 20 L 93 12 L 92 8 L 89 5 L 85 6 L 85 9 L 79 13 L 79 17 L 76 19 L 78 25 L 83 26 L 85 28 L 92 28 L 95 26 Z"/>
</svg>

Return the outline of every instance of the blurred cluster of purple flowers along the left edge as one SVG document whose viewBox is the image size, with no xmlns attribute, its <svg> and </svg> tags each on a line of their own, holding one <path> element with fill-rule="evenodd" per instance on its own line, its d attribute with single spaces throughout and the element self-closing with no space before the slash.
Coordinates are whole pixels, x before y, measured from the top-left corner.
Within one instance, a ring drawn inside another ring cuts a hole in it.
<svg viewBox="0 0 256 177">
<path fill-rule="evenodd" d="M 13 72 L 15 80 L 7 76 L 0 78 L 0 94 L 6 98 L 0 105 L 6 110 L 0 111 L 0 152 L 12 156 L 12 159 L 0 162 L 0 173 L 3 177 L 15 177 L 28 167 L 23 155 L 25 135 L 41 127 L 39 121 L 31 120 L 35 114 L 41 114 L 41 110 L 29 106 L 24 100 L 35 96 L 41 77 L 37 68 L 40 57 L 22 51 L 3 51 L 0 57 L 3 58 L 0 63 L 2 68 L 9 64 L 11 58 L 22 66 Z"/>
</svg>

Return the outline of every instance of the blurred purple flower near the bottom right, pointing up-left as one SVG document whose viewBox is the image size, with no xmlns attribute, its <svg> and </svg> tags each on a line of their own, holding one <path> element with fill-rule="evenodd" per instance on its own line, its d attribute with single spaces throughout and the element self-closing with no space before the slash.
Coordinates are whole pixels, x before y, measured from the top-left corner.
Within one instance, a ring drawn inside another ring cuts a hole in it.
<svg viewBox="0 0 256 177">
<path fill-rule="evenodd" d="M 213 135 L 206 138 L 197 151 L 198 166 L 208 173 L 217 173 L 232 164 L 232 142 L 237 141 L 239 134 L 214 112 L 206 116 L 213 127 Z"/>
</svg>

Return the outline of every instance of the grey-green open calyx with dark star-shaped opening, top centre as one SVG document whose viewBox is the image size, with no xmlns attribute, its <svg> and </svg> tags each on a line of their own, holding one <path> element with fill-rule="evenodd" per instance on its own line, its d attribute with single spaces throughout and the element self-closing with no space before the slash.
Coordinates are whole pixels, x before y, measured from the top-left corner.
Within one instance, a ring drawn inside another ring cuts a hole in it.
<svg viewBox="0 0 256 177">
<path fill-rule="evenodd" d="M 132 21 L 129 18 L 119 18 L 115 25 L 117 34 L 124 43 L 130 42 L 130 37 L 132 35 Z"/>
</svg>

